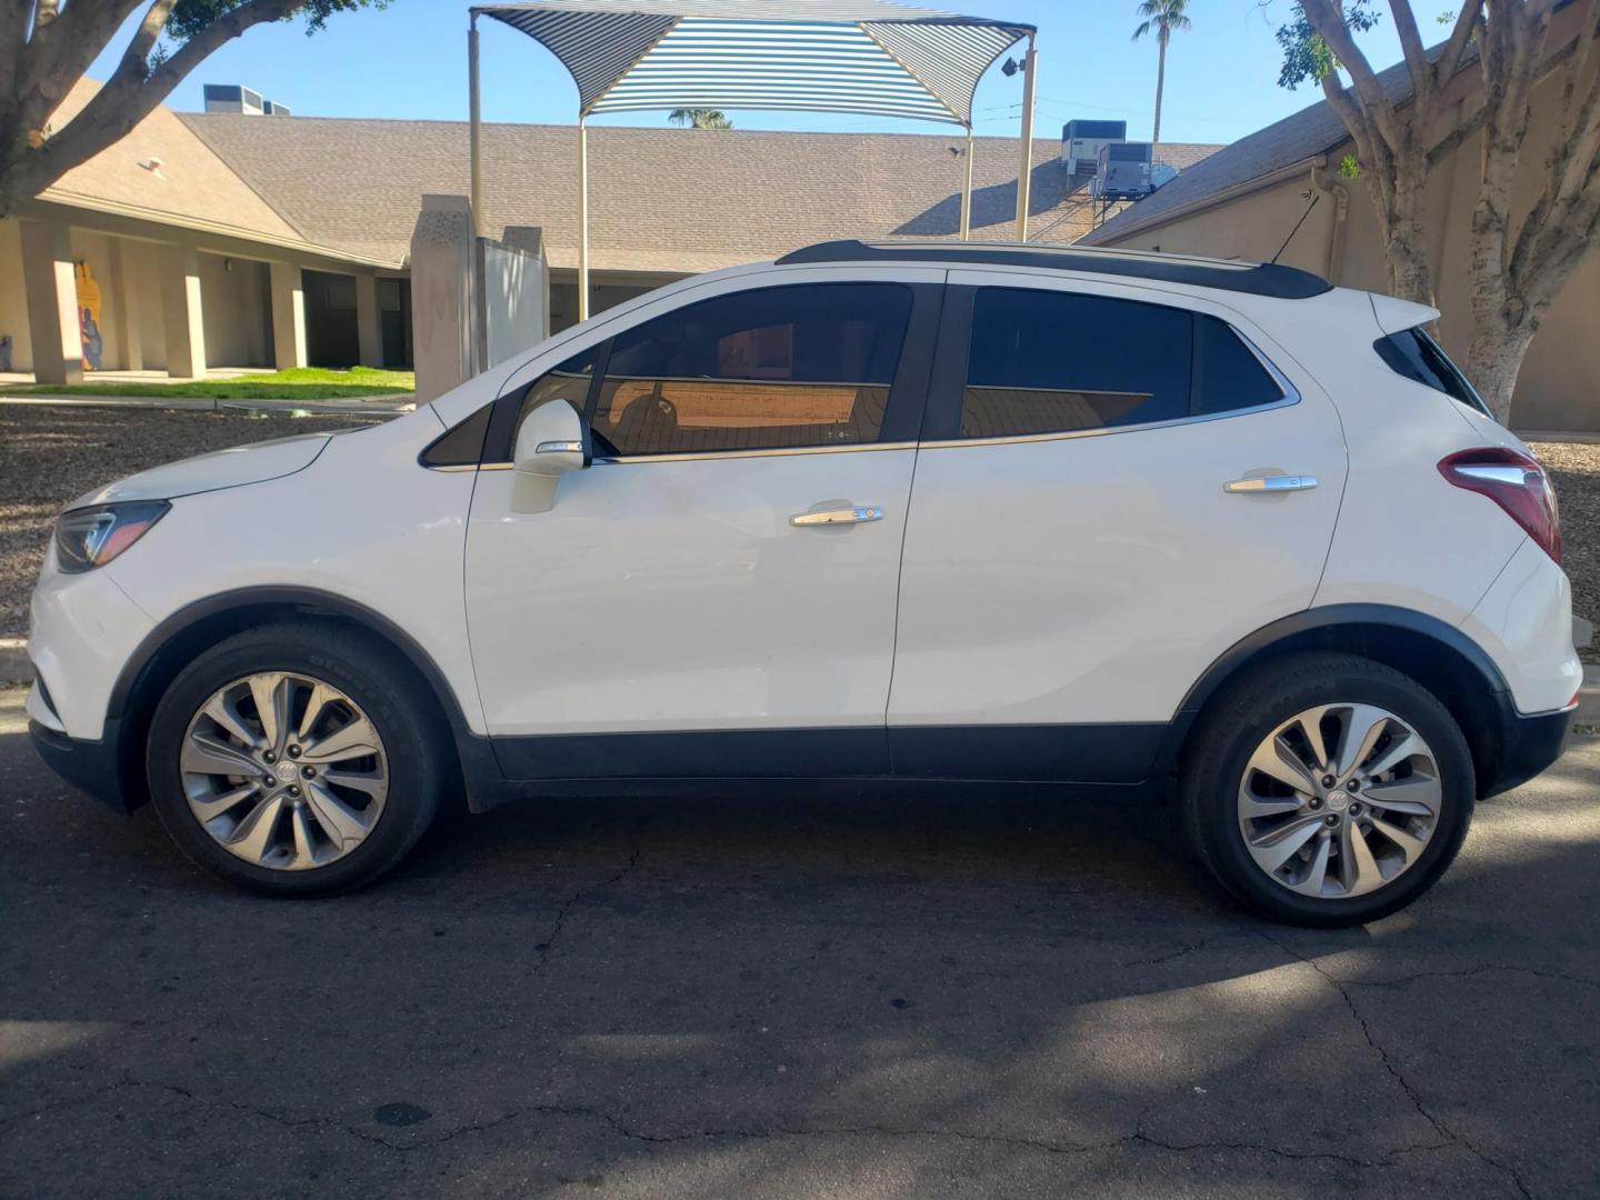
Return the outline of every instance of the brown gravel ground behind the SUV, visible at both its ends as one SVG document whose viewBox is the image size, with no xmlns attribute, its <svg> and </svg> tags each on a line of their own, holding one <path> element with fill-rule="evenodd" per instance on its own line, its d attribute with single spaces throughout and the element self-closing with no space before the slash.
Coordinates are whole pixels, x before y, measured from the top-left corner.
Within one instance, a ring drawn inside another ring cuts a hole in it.
<svg viewBox="0 0 1600 1200">
<path fill-rule="evenodd" d="M 0 637 L 27 632 L 27 594 L 50 523 L 90 488 L 190 454 L 379 419 L 0 405 Z M 1600 445 L 1538 442 L 1533 451 L 1560 498 L 1573 608 L 1600 619 Z"/>
</svg>

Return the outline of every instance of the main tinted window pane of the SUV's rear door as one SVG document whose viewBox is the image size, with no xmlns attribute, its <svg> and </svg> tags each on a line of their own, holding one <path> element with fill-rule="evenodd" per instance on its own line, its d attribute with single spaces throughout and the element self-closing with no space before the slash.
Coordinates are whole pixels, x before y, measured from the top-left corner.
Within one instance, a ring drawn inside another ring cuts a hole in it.
<svg viewBox="0 0 1600 1200">
<path fill-rule="evenodd" d="M 1181 309 L 984 288 L 973 304 L 962 437 L 1058 434 L 1189 414 Z"/>
</svg>

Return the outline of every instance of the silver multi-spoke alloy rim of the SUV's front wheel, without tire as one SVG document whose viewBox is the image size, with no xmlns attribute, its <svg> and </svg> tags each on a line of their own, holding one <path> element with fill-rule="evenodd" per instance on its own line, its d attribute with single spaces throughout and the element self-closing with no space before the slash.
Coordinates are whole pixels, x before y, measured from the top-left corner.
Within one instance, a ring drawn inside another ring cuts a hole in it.
<svg viewBox="0 0 1600 1200">
<path fill-rule="evenodd" d="M 189 811 L 235 858 L 272 870 L 325 867 L 373 832 L 389 755 L 349 696 L 302 674 L 218 688 L 189 722 L 178 763 Z"/>
</svg>

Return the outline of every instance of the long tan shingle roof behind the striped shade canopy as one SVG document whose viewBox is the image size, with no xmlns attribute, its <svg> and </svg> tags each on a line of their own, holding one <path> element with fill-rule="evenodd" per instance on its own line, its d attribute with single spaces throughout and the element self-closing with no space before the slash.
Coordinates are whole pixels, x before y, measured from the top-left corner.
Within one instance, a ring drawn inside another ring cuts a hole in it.
<svg viewBox="0 0 1600 1200">
<path fill-rule="evenodd" d="M 182 120 L 301 234 L 402 262 L 421 197 L 466 195 L 461 122 L 182 114 Z M 590 126 L 589 243 L 595 270 L 698 272 L 838 237 L 954 237 L 962 134 L 766 133 Z M 1213 146 L 1173 144 L 1182 168 Z M 1034 142 L 1029 235 L 1091 227 L 1088 176 L 1059 142 Z M 541 226 L 552 266 L 578 261 L 576 130 L 485 125 L 485 230 Z M 1016 141 L 979 138 L 973 235 L 1010 237 Z"/>
</svg>

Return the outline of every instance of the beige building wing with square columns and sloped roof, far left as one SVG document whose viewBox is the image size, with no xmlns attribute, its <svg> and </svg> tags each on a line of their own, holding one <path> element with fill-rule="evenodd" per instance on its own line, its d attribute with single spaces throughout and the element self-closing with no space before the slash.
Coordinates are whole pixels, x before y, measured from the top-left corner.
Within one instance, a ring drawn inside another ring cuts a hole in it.
<svg viewBox="0 0 1600 1200">
<path fill-rule="evenodd" d="M 93 91 L 80 85 L 56 120 Z M 307 238 L 157 109 L 0 219 L 0 338 L 10 368 L 40 382 L 77 382 L 85 350 L 104 368 L 194 376 L 304 366 L 331 314 L 352 331 L 352 362 L 376 365 L 381 288 L 402 277 L 400 262 Z"/>
</svg>

